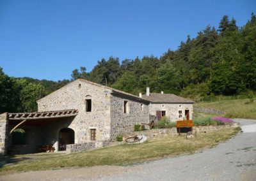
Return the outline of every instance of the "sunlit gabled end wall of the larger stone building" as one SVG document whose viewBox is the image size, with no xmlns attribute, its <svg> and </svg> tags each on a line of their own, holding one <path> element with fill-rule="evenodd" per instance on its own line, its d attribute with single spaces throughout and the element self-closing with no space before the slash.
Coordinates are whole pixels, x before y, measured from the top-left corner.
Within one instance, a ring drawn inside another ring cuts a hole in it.
<svg viewBox="0 0 256 181">
<path fill-rule="evenodd" d="M 90 141 L 90 129 L 96 129 L 96 140 L 109 140 L 110 97 L 110 89 L 76 80 L 40 99 L 38 111 L 77 109 L 77 116 L 68 125 L 75 131 L 75 143 Z M 85 99 L 92 99 L 92 112 L 86 112 Z"/>
</svg>

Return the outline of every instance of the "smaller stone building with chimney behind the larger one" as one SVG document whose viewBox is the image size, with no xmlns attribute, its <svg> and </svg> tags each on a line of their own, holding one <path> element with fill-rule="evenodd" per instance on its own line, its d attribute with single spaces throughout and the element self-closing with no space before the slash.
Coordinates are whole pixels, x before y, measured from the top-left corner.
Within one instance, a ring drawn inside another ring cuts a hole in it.
<svg viewBox="0 0 256 181">
<path fill-rule="evenodd" d="M 193 104 L 191 101 L 175 94 L 150 93 L 149 87 L 147 87 L 146 94 L 140 94 L 140 97 L 150 101 L 149 113 L 154 115 L 160 120 L 162 117 L 166 117 L 171 122 L 177 120 L 189 120 L 193 117 Z"/>
</svg>

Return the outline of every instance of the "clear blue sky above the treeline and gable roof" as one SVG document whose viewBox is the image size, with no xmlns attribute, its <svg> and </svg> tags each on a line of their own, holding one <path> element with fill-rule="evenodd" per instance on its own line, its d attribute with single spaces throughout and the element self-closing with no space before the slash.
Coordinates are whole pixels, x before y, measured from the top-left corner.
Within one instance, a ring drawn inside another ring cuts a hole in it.
<svg viewBox="0 0 256 181">
<path fill-rule="evenodd" d="M 160 57 L 188 34 L 218 27 L 223 15 L 246 24 L 256 1 L 0 0 L 0 66 L 9 76 L 70 79 L 102 58 Z"/>
</svg>

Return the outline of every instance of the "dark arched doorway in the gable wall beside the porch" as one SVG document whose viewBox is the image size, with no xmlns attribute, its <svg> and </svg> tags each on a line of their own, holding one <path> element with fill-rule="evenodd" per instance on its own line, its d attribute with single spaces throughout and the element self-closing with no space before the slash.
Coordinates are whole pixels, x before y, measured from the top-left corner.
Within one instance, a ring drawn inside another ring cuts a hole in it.
<svg viewBox="0 0 256 181">
<path fill-rule="evenodd" d="M 75 143 L 75 131 L 70 128 L 63 128 L 60 130 L 59 136 L 59 150 L 66 150 L 66 145 Z"/>
</svg>

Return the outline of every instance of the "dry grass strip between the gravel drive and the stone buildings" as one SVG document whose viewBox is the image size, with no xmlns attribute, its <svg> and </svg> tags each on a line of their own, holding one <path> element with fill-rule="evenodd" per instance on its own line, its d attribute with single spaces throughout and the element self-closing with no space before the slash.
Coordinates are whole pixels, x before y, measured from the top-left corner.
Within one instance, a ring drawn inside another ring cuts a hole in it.
<svg viewBox="0 0 256 181">
<path fill-rule="evenodd" d="M 192 140 L 185 136 L 173 136 L 149 140 L 140 145 L 116 145 L 76 154 L 31 154 L 9 157 L 8 164 L 0 168 L 1 174 L 16 171 L 52 170 L 59 168 L 96 165 L 125 165 L 143 163 L 163 157 L 193 154 L 202 148 L 211 148 L 239 132 L 237 128 L 225 128 L 211 133 L 198 134 Z"/>
</svg>

